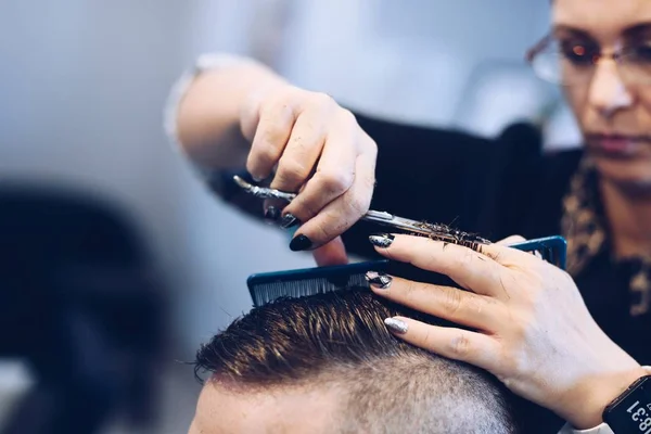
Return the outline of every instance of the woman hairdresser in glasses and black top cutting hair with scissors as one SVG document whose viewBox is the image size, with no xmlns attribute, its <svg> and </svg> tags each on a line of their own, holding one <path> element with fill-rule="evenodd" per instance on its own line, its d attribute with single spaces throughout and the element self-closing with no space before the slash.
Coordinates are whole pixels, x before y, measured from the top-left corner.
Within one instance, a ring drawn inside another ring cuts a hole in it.
<svg viewBox="0 0 651 434">
<path fill-rule="evenodd" d="M 637 380 L 651 363 L 651 2 L 552 8 L 550 37 L 531 61 L 563 85 L 585 137 L 579 151 L 542 155 L 535 139 L 372 119 L 254 61 L 218 55 L 176 88 L 170 133 L 230 203 L 251 209 L 225 169 L 245 167 L 299 192 L 265 212 L 297 227 L 292 250 L 335 264 L 346 260 L 345 244 L 470 290 L 371 279 L 381 296 L 477 330 L 390 319 L 396 335 L 487 369 L 567 421 L 567 432 L 650 433 L 649 383 Z M 480 254 L 408 235 L 369 242 L 357 222 L 369 206 L 429 221 L 460 217 L 456 226 L 496 240 L 561 233 L 570 275 L 503 245 Z M 604 413 L 629 386 L 635 399 Z M 598 426 L 604 416 L 610 429 Z"/>
</svg>

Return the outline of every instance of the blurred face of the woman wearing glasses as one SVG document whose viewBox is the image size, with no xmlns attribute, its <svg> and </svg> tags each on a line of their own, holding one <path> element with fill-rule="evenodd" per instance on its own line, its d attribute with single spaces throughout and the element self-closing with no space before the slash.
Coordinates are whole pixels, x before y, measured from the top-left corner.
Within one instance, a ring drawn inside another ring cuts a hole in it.
<svg viewBox="0 0 651 434">
<path fill-rule="evenodd" d="M 565 94 L 600 174 L 635 190 L 651 191 L 651 0 L 556 0 L 553 35 L 587 56 L 588 79 Z M 623 62 L 610 54 L 624 49 Z M 596 65 L 590 59 L 603 54 Z"/>
</svg>

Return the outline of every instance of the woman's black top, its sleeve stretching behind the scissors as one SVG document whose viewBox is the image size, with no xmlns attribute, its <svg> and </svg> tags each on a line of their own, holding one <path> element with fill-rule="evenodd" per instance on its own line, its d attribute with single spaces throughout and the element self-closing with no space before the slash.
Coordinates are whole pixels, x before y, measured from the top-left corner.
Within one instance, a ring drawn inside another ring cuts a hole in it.
<svg viewBox="0 0 651 434">
<path fill-rule="evenodd" d="M 578 168 L 582 150 L 544 153 L 540 135 L 527 125 L 514 125 L 489 140 L 356 116 L 379 151 L 371 209 L 454 224 L 490 240 L 562 233 L 562 199 Z M 261 217 L 259 201 L 251 208 L 251 200 L 238 188 L 219 183 L 227 201 Z M 343 235 L 347 251 L 376 257 L 368 234 L 378 231 L 382 229 L 372 224 L 356 224 Z M 629 281 L 638 267 L 633 261 L 615 263 L 607 248 L 574 279 L 605 333 L 640 363 L 651 365 L 651 315 L 629 314 Z M 535 431 L 554 432 L 561 421 L 550 423 L 539 423 L 541 430 Z"/>
</svg>

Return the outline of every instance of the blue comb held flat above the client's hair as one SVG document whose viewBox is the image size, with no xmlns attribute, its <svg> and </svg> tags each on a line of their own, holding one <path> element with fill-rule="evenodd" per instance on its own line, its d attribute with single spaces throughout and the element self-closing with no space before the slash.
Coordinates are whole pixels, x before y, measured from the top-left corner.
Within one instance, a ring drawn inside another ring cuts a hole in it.
<svg viewBox="0 0 651 434">
<path fill-rule="evenodd" d="M 565 269 L 567 245 L 559 235 L 540 238 L 512 244 L 511 247 L 524 252 L 538 253 L 542 259 Z M 387 272 L 404 276 L 408 279 L 417 276 L 419 281 L 454 285 L 447 277 L 434 272 L 425 272 L 408 265 L 388 259 L 371 260 L 349 265 L 303 268 L 286 271 L 261 272 L 252 275 L 246 280 L 253 305 L 256 307 L 271 303 L 281 297 L 302 297 L 326 292 L 344 290 L 353 286 L 366 286 L 365 275 L 368 271 Z"/>
</svg>

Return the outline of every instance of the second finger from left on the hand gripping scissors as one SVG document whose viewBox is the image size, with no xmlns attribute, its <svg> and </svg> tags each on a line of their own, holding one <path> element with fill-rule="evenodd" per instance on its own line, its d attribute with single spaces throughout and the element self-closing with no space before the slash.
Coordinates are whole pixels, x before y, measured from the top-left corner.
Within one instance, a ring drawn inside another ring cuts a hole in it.
<svg viewBox="0 0 651 434">
<path fill-rule="evenodd" d="M 278 162 L 272 189 L 295 192 L 307 182 L 323 150 L 328 115 L 328 108 L 323 107 L 298 116 Z"/>
</svg>

